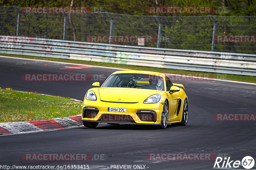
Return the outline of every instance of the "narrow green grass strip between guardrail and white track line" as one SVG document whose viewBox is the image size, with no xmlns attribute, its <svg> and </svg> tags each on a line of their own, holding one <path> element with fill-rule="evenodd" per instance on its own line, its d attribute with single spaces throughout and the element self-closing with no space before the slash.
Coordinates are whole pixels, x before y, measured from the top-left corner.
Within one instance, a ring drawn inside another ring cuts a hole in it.
<svg viewBox="0 0 256 170">
<path fill-rule="evenodd" d="M 39 59 L 39 60 L 62 61 L 62 62 L 68 62 L 68 63 L 87 64 L 87 65 L 95 65 L 95 66 L 126 68 L 126 69 L 133 69 L 133 70 L 157 71 L 157 72 L 161 72 L 161 73 L 186 74 L 186 75 L 187 74 L 192 74 L 194 76 L 196 76 L 197 74 L 207 74 L 207 75 L 210 75 L 209 77 L 211 77 L 211 78 L 256 83 L 256 76 L 220 74 L 220 73 L 206 73 L 206 72 L 186 71 L 186 70 L 177 70 L 177 69 L 165 69 L 165 68 L 154 68 L 154 67 L 140 67 L 140 66 L 113 64 L 113 63 L 101 63 L 101 62 L 94 62 L 94 61 L 68 60 L 68 59 L 57 59 L 57 58 L 36 57 L 36 56 L 16 55 L 16 54 L 4 54 L 4 53 L 0 53 L 0 55 L 20 57 L 20 58 L 29 58 L 29 59 Z"/>
</svg>

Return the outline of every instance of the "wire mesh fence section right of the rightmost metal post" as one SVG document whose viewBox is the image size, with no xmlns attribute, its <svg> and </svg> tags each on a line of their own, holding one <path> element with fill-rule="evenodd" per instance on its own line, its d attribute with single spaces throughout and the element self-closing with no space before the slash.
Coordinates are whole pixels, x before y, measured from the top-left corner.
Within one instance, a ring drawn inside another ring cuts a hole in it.
<svg viewBox="0 0 256 170">
<path fill-rule="evenodd" d="M 214 19 L 217 21 L 216 35 L 226 35 L 226 37 L 222 36 L 222 39 L 219 41 L 216 39 L 216 51 L 251 54 L 256 53 L 256 16 L 215 16 Z M 225 40 L 224 38 L 227 38 L 228 40 Z M 234 38 L 233 42 L 227 43 L 227 41 L 232 41 L 232 38 Z"/>
</svg>

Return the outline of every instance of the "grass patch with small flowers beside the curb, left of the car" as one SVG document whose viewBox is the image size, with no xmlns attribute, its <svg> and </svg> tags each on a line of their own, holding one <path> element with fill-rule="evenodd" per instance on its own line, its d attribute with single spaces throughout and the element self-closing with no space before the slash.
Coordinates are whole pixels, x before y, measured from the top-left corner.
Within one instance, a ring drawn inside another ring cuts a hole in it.
<svg viewBox="0 0 256 170">
<path fill-rule="evenodd" d="M 70 98 L 0 89 L 0 123 L 75 116 L 82 113 L 82 104 Z"/>
</svg>

